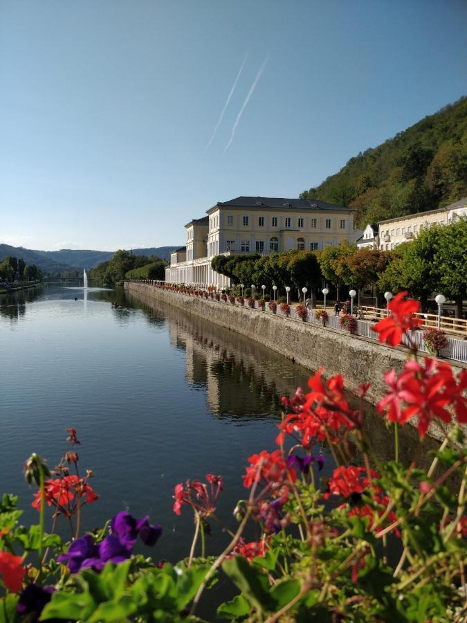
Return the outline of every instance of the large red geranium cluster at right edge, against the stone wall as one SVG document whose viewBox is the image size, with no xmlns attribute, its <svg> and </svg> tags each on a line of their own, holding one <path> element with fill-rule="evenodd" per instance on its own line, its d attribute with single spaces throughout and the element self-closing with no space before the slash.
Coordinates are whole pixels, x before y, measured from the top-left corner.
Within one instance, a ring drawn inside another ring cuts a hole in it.
<svg viewBox="0 0 467 623">
<path fill-rule="evenodd" d="M 446 423 L 451 421 L 451 414 L 446 408 L 450 404 L 458 407 L 458 421 L 467 421 L 466 399 L 461 395 L 467 375 L 461 375 L 458 385 L 447 363 L 428 357 L 423 365 L 411 360 L 405 363 L 399 376 L 395 370 L 386 372 L 384 376 L 389 390 L 376 408 L 378 413 L 384 413 L 387 409 L 390 422 L 405 424 L 411 417 L 418 417 L 419 433 L 424 437 L 436 417 Z"/>
</svg>

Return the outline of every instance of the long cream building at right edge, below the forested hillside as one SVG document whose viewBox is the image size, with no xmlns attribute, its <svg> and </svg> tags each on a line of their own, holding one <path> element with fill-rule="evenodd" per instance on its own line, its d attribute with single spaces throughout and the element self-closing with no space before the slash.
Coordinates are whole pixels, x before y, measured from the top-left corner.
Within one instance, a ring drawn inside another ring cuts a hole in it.
<svg viewBox="0 0 467 623">
<path fill-rule="evenodd" d="M 460 217 L 467 217 L 467 197 L 439 210 L 419 212 L 378 223 L 379 248 L 390 251 L 402 242 L 409 242 L 424 228 L 434 224 L 448 225 Z"/>
</svg>

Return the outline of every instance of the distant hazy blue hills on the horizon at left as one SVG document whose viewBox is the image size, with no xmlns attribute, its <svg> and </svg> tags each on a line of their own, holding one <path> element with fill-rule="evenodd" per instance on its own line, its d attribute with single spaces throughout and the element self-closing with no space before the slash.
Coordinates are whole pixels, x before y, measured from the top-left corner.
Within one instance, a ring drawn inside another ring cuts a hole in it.
<svg viewBox="0 0 467 623">
<path fill-rule="evenodd" d="M 178 245 L 180 246 L 180 245 Z M 178 246 L 152 246 L 147 249 L 133 249 L 134 255 L 157 255 L 161 260 L 170 260 L 170 253 Z M 88 249 L 60 249 L 60 251 L 37 251 L 22 246 L 0 244 L 0 260 L 6 255 L 23 258 L 26 264 L 36 264 L 44 273 L 61 273 L 70 270 L 91 270 L 100 262 L 113 258 L 115 251 L 91 251 Z"/>
</svg>

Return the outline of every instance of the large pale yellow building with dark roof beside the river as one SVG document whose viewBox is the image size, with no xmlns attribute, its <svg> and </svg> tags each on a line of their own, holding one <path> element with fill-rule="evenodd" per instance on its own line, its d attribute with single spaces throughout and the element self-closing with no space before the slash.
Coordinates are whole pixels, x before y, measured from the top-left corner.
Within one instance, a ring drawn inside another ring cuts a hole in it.
<svg viewBox="0 0 467 623">
<path fill-rule="evenodd" d="M 237 197 L 207 210 L 208 216 L 185 225 L 185 256 L 170 256 L 170 283 L 226 287 L 229 280 L 211 268 L 215 255 L 316 251 L 351 242 L 354 211 L 325 201 L 277 197 Z"/>
</svg>

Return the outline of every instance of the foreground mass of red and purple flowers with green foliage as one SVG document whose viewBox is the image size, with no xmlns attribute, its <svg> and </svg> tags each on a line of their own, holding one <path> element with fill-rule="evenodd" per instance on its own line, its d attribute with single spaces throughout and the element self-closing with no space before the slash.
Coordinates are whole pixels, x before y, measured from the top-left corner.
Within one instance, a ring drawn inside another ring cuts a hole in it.
<svg viewBox="0 0 467 623">
<path fill-rule="evenodd" d="M 413 317 L 419 304 L 404 294 L 374 327 L 390 345 L 403 334 L 410 339 L 420 322 Z M 394 431 L 394 460 L 382 464 L 365 435 L 369 385 L 358 388 L 354 409 L 342 376 L 325 380 L 319 370 L 308 392 L 282 399 L 277 447 L 248 458 L 246 496 L 234 510 L 237 525 L 224 525 L 230 541 L 223 552 L 210 555 L 205 539 L 213 521 L 223 523 L 216 515 L 221 476 L 176 485 L 174 512 L 194 516 L 190 552 L 177 563 L 134 554 L 138 539 L 154 546 L 161 536 L 148 517 L 120 512 L 80 536 L 82 510 L 98 496 L 93 474 L 80 476 L 77 433 L 68 429 L 68 449 L 53 473 L 37 455 L 26 462 L 39 524 L 18 525 L 17 499 L 1 501 L 0 622 L 199 621 L 199 602 L 209 599 L 205 590 L 215 590 L 221 569 L 238 589 L 217 610 L 224 620 L 465 621 L 467 371 L 456 377 L 447 363 L 419 359 L 413 346 L 385 383 L 377 409 Z M 429 426 L 441 424 L 446 433 L 428 470 L 399 460 L 399 428 L 413 418 L 421 444 Z M 327 481 L 320 478 L 323 443 L 335 463 Z M 55 511 L 51 534 L 44 532 L 46 504 Z M 54 533 L 61 517 L 71 530 L 68 544 Z M 250 522 L 259 538 L 246 542 Z"/>
</svg>

